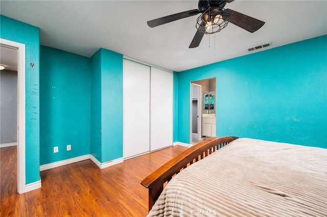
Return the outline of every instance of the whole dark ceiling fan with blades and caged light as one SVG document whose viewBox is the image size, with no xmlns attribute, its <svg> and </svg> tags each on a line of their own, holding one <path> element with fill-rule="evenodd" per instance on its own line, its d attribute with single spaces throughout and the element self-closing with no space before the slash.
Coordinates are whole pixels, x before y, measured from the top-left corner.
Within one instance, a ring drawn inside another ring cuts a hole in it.
<svg viewBox="0 0 327 217">
<path fill-rule="evenodd" d="M 197 31 L 189 48 L 198 47 L 204 34 L 213 34 L 220 32 L 227 26 L 228 22 L 231 22 L 250 33 L 254 33 L 265 24 L 264 21 L 255 19 L 240 12 L 233 11 L 231 9 L 224 9 L 226 3 L 231 3 L 233 1 L 234 0 L 200 0 L 198 3 L 199 9 L 184 11 L 165 17 L 160 17 L 157 19 L 150 20 L 147 23 L 151 28 L 153 28 L 158 25 L 162 25 L 168 22 L 172 22 L 201 13 L 201 15 L 197 18 Z"/>
</svg>

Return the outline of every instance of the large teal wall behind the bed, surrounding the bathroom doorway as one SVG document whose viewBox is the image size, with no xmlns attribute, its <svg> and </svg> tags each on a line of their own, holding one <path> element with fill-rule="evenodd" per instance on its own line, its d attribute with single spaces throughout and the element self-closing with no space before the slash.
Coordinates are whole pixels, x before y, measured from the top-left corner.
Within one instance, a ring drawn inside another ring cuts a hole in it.
<svg viewBox="0 0 327 217">
<path fill-rule="evenodd" d="M 178 141 L 190 142 L 190 83 L 216 77 L 217 136 L 327 148 L 326 47 L 321 36 L 179 72 Z"/>
</svg>

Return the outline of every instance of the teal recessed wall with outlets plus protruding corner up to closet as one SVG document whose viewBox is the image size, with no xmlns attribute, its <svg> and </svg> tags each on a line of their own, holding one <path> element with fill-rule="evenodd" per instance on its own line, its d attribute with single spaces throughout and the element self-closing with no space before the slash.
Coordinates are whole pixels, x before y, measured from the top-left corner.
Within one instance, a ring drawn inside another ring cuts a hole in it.
<svg viewBox="0 0 327 217">
<path fill-rule="evenodd" d="M 123 56 L 40 46 L 40 62 L 40 165 L 85 154 L 100 162 L 122 157 Z"/>
</svg>

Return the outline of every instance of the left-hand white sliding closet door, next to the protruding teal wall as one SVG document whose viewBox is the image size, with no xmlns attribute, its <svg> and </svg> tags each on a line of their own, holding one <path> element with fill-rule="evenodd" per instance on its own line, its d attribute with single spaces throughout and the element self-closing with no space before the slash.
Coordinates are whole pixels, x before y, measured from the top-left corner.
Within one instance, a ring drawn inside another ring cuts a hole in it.
<svg viewBox="0 0 327 217">
<path fill-rule="evenodd" d="M 150 67 L 123 62 L 124 158 L 150 151 Z"/>
</svg>

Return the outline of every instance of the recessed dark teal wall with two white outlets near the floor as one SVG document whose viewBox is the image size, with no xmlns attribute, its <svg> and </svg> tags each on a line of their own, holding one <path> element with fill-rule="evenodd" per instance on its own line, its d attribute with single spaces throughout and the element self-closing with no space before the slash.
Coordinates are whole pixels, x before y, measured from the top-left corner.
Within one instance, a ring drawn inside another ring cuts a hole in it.
<svg viewBox="0 0 327 217">
<path fill-rule="evenodd" d="M 40 46 L 40 63 L 40 165 L 89 154 L 90 59 Z"/>
</svg>

